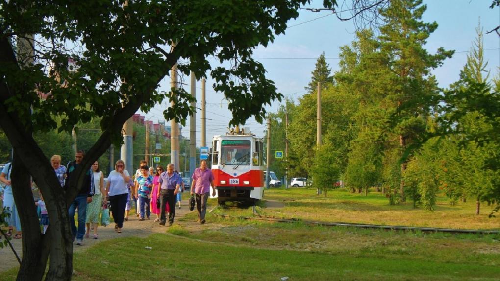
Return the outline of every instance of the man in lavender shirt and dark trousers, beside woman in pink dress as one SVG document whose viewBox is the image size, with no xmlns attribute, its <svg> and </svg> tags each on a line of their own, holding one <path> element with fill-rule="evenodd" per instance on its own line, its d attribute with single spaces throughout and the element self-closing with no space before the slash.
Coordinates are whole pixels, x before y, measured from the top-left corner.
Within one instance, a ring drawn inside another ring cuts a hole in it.
<svg viewBox="0 0 500 281">
<path fill-rule="evenodd" d="M 158 189 L 157 197 L 160 199 L 160 217 L 159 224 L 161 226 L 165 225 L 165 203 L 168 202 L 168 208 L 170 213 L 168 213 L 168 226 L 173 224 L 173 218 L 175 217 L 175 199 L 177 198 L 177 193 L 179 193 L 180 183 L 182 179 L 179 174 L 173 172 L 173 164 L 170 163 L 166 165 L 166 172 L 159 175 L 158 183 L 160 188 Z"/>
</svg>

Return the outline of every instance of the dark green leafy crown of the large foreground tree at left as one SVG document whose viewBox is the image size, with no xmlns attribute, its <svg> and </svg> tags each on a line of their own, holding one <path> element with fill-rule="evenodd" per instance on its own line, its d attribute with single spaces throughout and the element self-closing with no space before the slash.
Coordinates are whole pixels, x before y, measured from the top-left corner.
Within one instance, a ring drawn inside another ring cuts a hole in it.
<svg viewBox="0 0 500 281">
<path fill-rule="evenodd" d="M 20 33 L 43 38 L 35 44 L 36 64 L 22 70 L 14 63 L 3 65 L 2 81 L 11 92 L 23 93 L 9 96 L 6 105 L 18 111 L 25 124 L 32 120 L 29 125 L 35 130 L 70 132 L 80 121 L 102 118 L 104 131 L 124 105 L 138 103 L 147 112 L 166 98 L 175 106 L 164 111 L 165 120 L 184 123 L 193 110 L 190 95 L 183 89 L 156 90 L 178 63 L 184 74 L 194 71 L 199 78 L 209 73 L 215 80 L 214 89 L 230 102 L 230 124 L 244 124 L 250 116 L 262 121 L 263 105 L 281 94 L 265 78 L 262 64 L 253 60 L 253 49 L 283 33 L 286 22 L 298 16 L 298 7 L 306 2 L 40 2 L 22 8 L 2 3 L 0 29 L 7 38 Z M 334 4 L 323 1 L 325 6 Z M 84 48 L 66 48 L 66 43 Z M 175 48 L 170 48 L 172 43 Z M 212 68 L 209 56 L 234 63 Z M 49 93 L 49 98 L 42 102 L 37 92 Z M 118 140 L 119 132 L 112 137 Z"/>
</svg>

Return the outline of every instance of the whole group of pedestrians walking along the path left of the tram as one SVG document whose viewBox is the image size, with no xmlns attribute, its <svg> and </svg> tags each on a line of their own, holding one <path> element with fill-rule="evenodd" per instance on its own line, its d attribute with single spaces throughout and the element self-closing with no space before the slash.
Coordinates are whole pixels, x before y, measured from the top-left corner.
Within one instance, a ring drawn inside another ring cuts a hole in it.
<svg viewBox="0 0 500 281">
<path fill-rule="evenodd" d="M 50 158 L 54 173 L 63 188 L 67 190 L 69 180 L 75 176 L 74 171 L 81 165 L 84 152 L 78 150 L 75 153 L 74 161 L 68 163 L 67 167 L 61 165 L 61 157 L 53 155 Z M 166 166 L 166 171 L 161 166 L 154 169 L 147 167 L 147 162 L 142 160 L 140 168 L 137 170 L 134 179 L 130 177 L 125 164 L 122 160 L 117 160 L 114 164 L 114 170 L 107 177 L 107 184 L 104 187 L 104 175 L 99 169 L 99 163 L 95 161 L 91 168 L 85 172 L 85 180 L 81 190 L 74 200 L 68 206 L 68 215 L 71 225 L 73 240 L 76 239 L 76 245 L 83 244 L 83 238 L 90 237 L 92 232 L 93 239 L 98 238 L 97 226 L 99 216 L 103 205 L 110 204 L 111 215 L 114 220 L 114 230 L 117 233 L 122 232 L 123 222 L 128 220 L 128 211 L 131 209 L 131 203 L 136 200 L 136 210 L 139 221 L 150 219 L 151 213 L 156 215 L 155 222 L 164 226 L 173 224 L 175 218 L 175 206 L 181 200 L 181 192 L 184 189 L 184 183 L 180 175 L 174 170 L 173 164 Z M 12 187 L 10 182 L 11 164 L 7 163 L 0 174 L 0 181 L 6 185 L 3 194 L 3 204 L 8 207 L 10 216 L 7 218 L 8 231 L 7 236 L 11 236 L 15 229 L 13 238 L 21 238 L 21 227 L 19 216 L 12 196 Z M 215 185 L 213 175 L 206 168 L 206 161 L 202 160 L 200 168 L 197 168 L 192 175 L 191 196 L 195 195 L 196 210 L 198 222 L 205 223 L 206 202 L 209 197 L 210 185 L 215 195 Z M 107 202 L 107 197 L 109 202 Z M 35 203 L 39 209 L 40 225 L 43 226 L 42 233 L 45 233 L 49 220 L 45 208 L 43 197 Z M 78 214 L 76 226 L 74 215 Z"/>
</svg>

